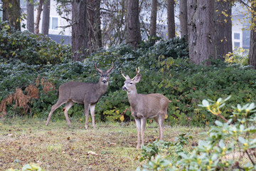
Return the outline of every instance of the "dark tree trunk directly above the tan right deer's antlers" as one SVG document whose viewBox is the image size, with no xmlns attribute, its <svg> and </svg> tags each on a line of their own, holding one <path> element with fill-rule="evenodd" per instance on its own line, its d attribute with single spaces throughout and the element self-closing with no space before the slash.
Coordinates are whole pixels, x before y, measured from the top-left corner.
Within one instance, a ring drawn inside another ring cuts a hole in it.
<svg viewBox="0 0 256 171">
<path fill-rule="evenodd" d="M 139 0 L 127 0 L 127 43 L 137 48 L 142 41 L 139 27 Z"/>
</svg>

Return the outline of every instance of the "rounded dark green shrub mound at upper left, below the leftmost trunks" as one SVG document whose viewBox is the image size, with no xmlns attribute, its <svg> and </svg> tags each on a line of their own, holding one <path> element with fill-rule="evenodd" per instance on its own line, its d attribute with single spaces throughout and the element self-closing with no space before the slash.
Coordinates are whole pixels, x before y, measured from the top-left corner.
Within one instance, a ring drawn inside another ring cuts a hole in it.
<svg viewBox="0 0 256 171">
<path fill-rule="evenodd" d="M 70 46 L 60 46 L 48 36 L 16 31 L 0 20 L 0 57 L 18 58 L 30 65 L 56 64 L 71 56 Z"/>
</svg>

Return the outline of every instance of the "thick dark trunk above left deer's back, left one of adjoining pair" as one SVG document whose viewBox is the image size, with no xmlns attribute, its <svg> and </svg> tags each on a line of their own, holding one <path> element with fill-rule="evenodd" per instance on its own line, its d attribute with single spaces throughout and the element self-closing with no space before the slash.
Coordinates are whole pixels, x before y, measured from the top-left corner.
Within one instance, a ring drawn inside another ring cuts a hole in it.
<svg viewBox="0 0 256 171">
<path fill-rule="evenodd" d="M 72 60 L 82 61 L 87 53 L 87 1 L 72 1 Z"/>
</svg>

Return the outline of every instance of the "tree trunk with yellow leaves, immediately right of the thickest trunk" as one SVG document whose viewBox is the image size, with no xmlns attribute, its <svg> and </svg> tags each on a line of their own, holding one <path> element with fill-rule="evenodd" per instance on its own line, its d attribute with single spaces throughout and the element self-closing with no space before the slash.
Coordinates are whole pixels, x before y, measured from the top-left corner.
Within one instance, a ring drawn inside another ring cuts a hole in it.
<svg viewBox="0 0 256 171">
<path fill-rule="evenodd" d="M 232 52 L 232 6 L 230 1 L 215 1 L 215 56 L 223 60 L 223 56 Z M 223 14 L 224 13 L 224 14 Z"/>
</svg>

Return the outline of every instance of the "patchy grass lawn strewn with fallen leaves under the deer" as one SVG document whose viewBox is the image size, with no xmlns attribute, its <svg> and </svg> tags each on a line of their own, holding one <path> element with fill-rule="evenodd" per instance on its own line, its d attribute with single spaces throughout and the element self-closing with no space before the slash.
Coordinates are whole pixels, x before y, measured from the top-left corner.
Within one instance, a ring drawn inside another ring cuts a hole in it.
<svg viewBox="0 0 256 171">
<path fill-rule="evenodd" d="M 142 162 L 137 158 L 137 131 L 132 123 L 97 123 L 96 129 L 85 130 L 84 123 L 65 120 L 48 126 L 36 118 L 5 118 L 0 120 L 0 170 L 36 163 L 45 170 L 135 170 Z M 164 128 L 164 140 L 174 141 L 181 133 L 192 135 L 194 141 L 206 135 L 204 128 Z M 146 143 L 156 140 L 159 127 L 146 125 Z M 190 146 L 188 146 L 190 148 Z"/>
</svg>

